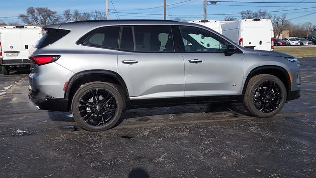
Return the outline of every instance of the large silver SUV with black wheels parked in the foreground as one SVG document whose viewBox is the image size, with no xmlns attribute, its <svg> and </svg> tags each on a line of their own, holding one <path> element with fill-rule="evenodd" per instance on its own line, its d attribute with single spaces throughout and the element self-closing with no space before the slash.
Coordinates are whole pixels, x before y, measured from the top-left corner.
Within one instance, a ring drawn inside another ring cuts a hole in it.
<svg viewBox="0 0 316 178">
<path fill-rule="evenodd" d="M 298 60 L 246 49 L 193 23 L 78 21 L 43 27 L 30 60 L 29 98 L 72 111 L 89 131 L 113 128 L 125 109 L 243 102 L 272 117 L 300 97 Z"/>
</svg>

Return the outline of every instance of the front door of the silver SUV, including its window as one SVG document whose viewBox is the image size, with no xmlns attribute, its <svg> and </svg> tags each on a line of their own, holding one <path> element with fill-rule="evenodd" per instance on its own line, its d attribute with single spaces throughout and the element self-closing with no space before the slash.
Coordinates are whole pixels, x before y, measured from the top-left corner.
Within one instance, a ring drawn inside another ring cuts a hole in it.
<svg viewBox="0 0 316 178">
<path fill-rule="evenodd" d="M 202 28 L 179 26 L 179 30 L 184 45 L 181 54 L 185 63 L 186 101 L 198 96 L 205 99 L 241 94 L 243 60 L 238 52 L 226 53 L 229 42 Z"/>
</svg>

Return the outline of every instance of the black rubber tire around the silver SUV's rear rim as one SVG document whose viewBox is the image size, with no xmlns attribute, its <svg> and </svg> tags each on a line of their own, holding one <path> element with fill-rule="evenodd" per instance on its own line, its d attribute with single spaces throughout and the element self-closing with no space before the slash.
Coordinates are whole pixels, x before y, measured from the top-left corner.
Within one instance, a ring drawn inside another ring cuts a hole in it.
<svg viewBox="0 0 316 178">
<path fill-rule="evenodd" d="M 112 118 L 112 120 L 109 123 L 106 123 L 102 126 L 93 126 L 90 125 L 88 123 L 86 123 L 82 117 L 80 116 L 79 113 L 79 100 L 81 99 L 81 97 L 86 94 L 87 92 L 89 92 L 90 90 L 93 89 L 104 89 L 108 92 L 110 92 L 112 94 L 112 96 L 115 98 L 116 100 L 116 104 L 117 104 L 117 111 L 115 113 L 114 118 Z M 112 85 L 111 83 L 105 83 L 105 82 L 91 82 L 91 83 L 87 83 L 85 84 L 83 87 L 80 87 L 72 100 L 72 105 L 71 105 L 71 109 L 72 109 L 72 113 L 74 116 L 75 121 L 79 124 L 79 126 L 85 130 L 88 131 L 103 131 L 103 130 L 107 130 L 112 128 L 113 126 L 115 126 L 115 124 L 119 121 L 121 113 L 123 111 L 123 99 L 121 94 L 119 93 L 118 89 L 116 89 L 116 87 L 114 85 Z"/>
</svg>

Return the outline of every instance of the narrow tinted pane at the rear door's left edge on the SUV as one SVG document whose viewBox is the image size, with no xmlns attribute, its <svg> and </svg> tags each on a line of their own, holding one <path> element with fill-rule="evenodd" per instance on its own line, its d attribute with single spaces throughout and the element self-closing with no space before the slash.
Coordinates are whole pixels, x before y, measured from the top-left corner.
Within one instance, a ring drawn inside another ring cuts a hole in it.
<svg viewBox="0 0 316 178">
<path fill-rule="evenodd" d="M 134 51 L 132 27 L 123 27 L 119 49 Z"/>
</svg>

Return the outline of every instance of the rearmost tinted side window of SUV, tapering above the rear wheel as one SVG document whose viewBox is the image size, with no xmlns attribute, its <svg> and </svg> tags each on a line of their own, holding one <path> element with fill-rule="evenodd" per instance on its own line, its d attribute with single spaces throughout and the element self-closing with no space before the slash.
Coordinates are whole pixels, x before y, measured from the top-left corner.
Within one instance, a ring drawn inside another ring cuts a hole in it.
<svg viewBox="0 0 316 178">
<path fill-rule="evenodd" d="M 92 32 L 83 44 L 117 49 L 119 27 L 105 27 Z"/>
</svg>

